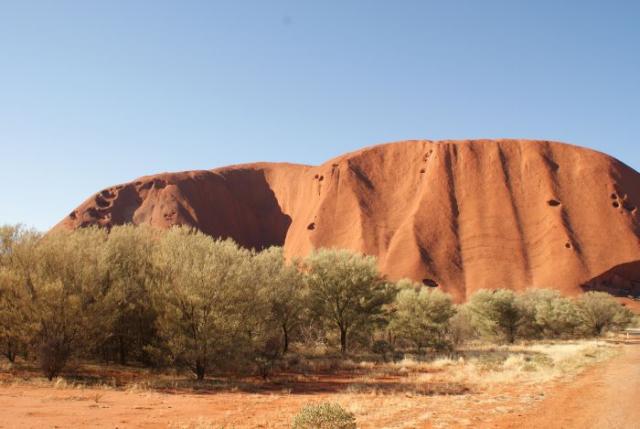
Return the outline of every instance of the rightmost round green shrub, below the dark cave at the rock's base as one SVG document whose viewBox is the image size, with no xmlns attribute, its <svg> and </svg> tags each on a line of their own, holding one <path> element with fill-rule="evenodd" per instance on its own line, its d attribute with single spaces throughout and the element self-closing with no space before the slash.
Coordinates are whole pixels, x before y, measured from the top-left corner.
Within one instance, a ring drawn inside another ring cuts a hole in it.
<svg viewBox="0 0 640 429">
<path fill-rule="evenodd" d="M 633 313 L 605 292 L 586 292 L 577 301 L 580 329 L 586 335 L 599 336 L 623 329 L 633 321 Z"/>
</svg>

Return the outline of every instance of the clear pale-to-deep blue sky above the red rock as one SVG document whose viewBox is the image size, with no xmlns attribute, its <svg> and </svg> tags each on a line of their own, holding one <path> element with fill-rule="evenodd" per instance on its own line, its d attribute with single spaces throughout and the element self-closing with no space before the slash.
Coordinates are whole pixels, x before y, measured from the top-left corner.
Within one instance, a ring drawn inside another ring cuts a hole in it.
<svg viewBox="0 0 640 429">
<path fill-rule="evenodd" d="M 0 0 L 0 224 L 156 172 L 492 137 L 640 169 L 640 1 Z"/>
</svg>

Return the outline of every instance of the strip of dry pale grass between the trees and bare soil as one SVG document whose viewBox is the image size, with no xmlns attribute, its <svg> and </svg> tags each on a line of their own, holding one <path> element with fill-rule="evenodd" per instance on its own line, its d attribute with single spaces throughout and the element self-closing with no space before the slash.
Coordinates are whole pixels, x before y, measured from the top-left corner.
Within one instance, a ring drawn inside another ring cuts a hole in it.
<svg viewBox="0 0 640 429">
<path fill-rule="evenodd" d="M 264 382 L 255 377 L 209 378 L 196 382 L 189 376 L 148 370 L 87 364 L 78 374 L 48 381 L 33 368 L 3 364 L 0 384 L 28 383 L 54 389 L 118 389 L 127 393 L 162 392 L 279 392 L 347 391 L 350 393 L 460 395 L 487 385 L 540 383 L 570 376 L 585 366 L 605 360 L 617 347 L 607 342 L 579 340 L 534 342 L 496 346 L 477 344 L 448 356 L 410 356 L 398 362 L 375 362 L 338 357 L 299 357 L 289 371 Z"/>
</svg>

